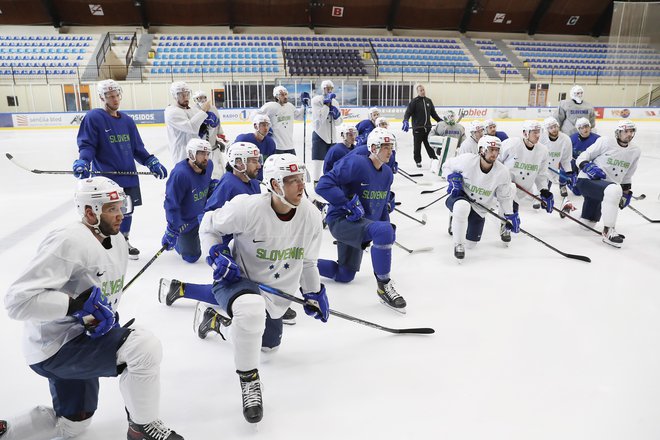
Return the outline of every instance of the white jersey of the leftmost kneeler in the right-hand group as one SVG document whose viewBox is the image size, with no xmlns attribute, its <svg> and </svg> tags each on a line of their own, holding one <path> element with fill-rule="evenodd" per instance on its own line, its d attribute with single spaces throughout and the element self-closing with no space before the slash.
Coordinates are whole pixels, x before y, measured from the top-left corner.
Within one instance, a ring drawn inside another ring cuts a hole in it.
<svg viewBox="0 0 660 440">
<path fill-rule="evenodd" d="M 496 198 L 502 211 L 513 213 L 513 187 L 509 170 L 500 162 L 495 161 L 489 172 L 481 171 L 481 157 L 476 154 L 461 154 L 448 159 L 442 166 L 442 175 L 451 173 L 463 175 L 463 191 L 473 200 L 490 208 Z M 486 210 L 477 205 L 472 209 L 481 217 L 486 216 Z"/>
</svg>

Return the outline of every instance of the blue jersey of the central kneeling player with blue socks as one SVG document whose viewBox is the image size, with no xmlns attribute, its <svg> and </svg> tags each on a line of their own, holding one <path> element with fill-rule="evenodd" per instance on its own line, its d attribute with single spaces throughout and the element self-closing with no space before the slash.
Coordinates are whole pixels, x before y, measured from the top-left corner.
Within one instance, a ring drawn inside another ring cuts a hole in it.
<svg viewBox="0 0 660 440">
<path fill-rule="evenodd" d="M 327 222 L 348 214 L 343 206 L 355 194 L 364 207 L 364 217 L 374 221 L 389 221 L 387 201 L 394 174 L 387 165 L 380 170 L 366 156 L 351 154 L 335 163 L 332 170 L 321 176 L 316 193 L 330 203 Z"/>
</svg>

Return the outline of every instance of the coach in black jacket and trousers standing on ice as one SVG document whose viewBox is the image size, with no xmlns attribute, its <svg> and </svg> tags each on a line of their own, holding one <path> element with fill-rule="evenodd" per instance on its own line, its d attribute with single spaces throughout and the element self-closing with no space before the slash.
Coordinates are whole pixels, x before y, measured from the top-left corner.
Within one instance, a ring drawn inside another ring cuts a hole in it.
<svg viewBox="0 0 660 440">
<path fill-rule="evenodd" d="M 422 142 L 426 153 L 431 159 L 437 159 L 433 148 L 429 145 L 429 132 L 431 131 L 431 118 L 440 122 L 440 116 L 435 111 L 433 101 L 426 97 L 426 90 L 422 84 L 415 85 L 417 96 L 410 101 L 406 113 L 403 115 L 403 131 L 410 129 L 408 119 L 412 117 L 413 124 L 413 158 L 417 168 L 422 167 Z"/>
</svg>

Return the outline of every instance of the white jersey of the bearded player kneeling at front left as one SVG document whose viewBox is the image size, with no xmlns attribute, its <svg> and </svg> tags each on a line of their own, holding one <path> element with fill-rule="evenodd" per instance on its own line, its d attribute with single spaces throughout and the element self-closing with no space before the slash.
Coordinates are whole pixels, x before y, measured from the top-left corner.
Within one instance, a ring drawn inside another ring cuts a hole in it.
<svg viewBox="0 0 660 440">
<path fill-rule="evenodd" d="M 110 237 L 106 249 L 81 222 L 51 232 L 37 255 L 9 287 L 9 317 L 25 321 L 23 351 L 32 365 L 53 356 L 85 330 L 66 316 L 69 298 L 98 286 L 113 310 L 121 299 L 128 261 L 124 236 Z"/>
</svg>

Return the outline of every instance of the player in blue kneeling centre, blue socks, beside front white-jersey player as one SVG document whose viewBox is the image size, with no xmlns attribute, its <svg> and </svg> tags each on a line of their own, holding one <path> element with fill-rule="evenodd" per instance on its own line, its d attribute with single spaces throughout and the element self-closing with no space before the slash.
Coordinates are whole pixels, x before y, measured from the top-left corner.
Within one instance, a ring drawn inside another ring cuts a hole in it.
<svg viewBox="0 0 660 440">
<path fill-rule="evenodd" d="M 353 281 L 362 253 L 373 242 L 371 262 L 378 283 L 378 297 L 387 306 L 405 313 L 406 301 L 390 279 L 395 228 L 390 223 L 394 193 L 393 174 L 387 162 L 394 138 L 384 128 L 369 134 L 369 156 L 352 154 L 335 163 L 319 180 L 316 192 L 330 203 L 326 222 L 337 239 L 337 261 L 319 260 L 319 272 L 340 283 Z"/>
</svg>

